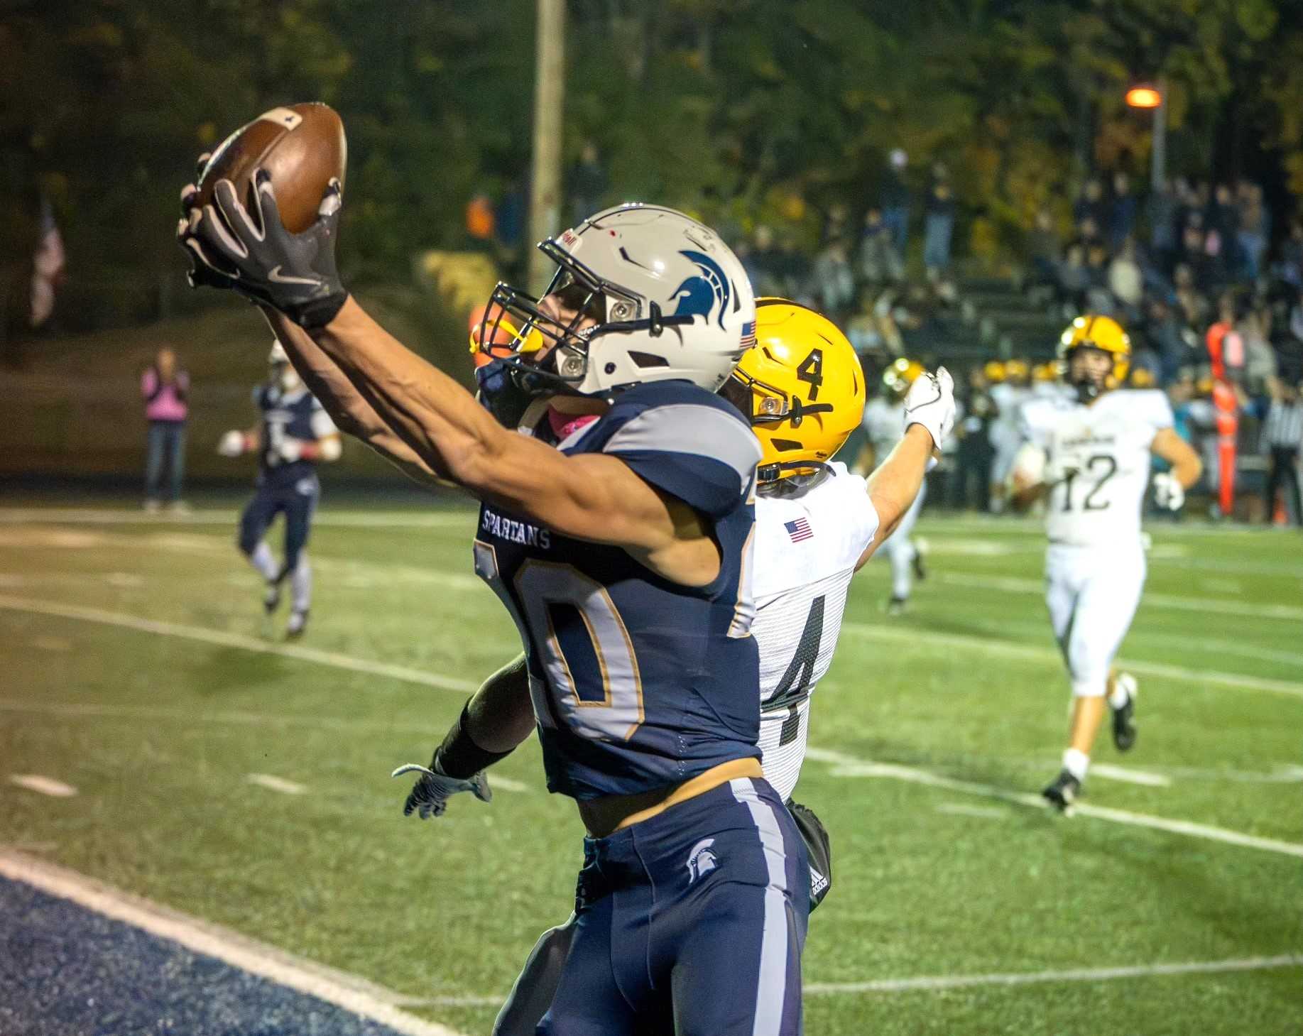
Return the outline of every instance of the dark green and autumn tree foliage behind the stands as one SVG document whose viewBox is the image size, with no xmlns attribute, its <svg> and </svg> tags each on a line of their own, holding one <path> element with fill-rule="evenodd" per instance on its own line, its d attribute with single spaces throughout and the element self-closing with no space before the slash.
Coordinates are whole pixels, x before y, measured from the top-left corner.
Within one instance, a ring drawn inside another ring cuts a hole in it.
<svg viewBox="0 0 1303 1036">
<path fill-rule="evenodd" d="M 3 271 L 22 285 L 38 199 L 69 253 L 60 310 L 154 315 L 176 284 L 194 156 L 274 104 L 322 99 L 349 133 L 344 246 L 407 279 L 464 244 L 473 194 L 528 189 L 532 0 L 10 0 L 0 21 Z M 1272 0 L 569 0 L 566 154 L 594 141 L 612 197 L 745 229 L 817 233 L 863 209 L 886 154 L 945 160 L 1006 246 L 1080 177 L 1143 173 L 1169 83 L 1174 172 L 1238 172 L 1233 139 L 1303 189 L 1303 8 Z M 1238 136 L 1235 136 L 1238 134 Z M 20 292 L 21 293 L 21 292 Z M 10 322 L 14 317 L 10 306 Z"/>
</svg>

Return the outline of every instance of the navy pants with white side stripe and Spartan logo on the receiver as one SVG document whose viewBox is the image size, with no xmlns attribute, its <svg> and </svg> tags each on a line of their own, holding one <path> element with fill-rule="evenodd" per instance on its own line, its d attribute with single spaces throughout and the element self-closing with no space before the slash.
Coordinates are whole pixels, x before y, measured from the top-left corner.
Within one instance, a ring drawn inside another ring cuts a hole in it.
<svg viewBox="0 0 1303 1036">
<path fill-rule="evenodd" d="M 737 778 L 584 844 L 569 953 L 542 1036 L 797 1036 L 805 846 L 767 782 Z"/>
</svg>

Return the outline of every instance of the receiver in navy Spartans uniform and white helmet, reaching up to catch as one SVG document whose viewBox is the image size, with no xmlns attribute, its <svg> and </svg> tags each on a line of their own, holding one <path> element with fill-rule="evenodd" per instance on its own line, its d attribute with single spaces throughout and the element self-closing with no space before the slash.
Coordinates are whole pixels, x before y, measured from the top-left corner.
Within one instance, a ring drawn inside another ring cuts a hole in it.
<svg viewBox="0 0 1303 1036">
<path fill-rule="evenodd" d="M 620 206 L 542 242 L 558 265 L 542 300 L 499 285 L 517 351 L 542 343 L 513 375 L 566 395 L 552 446 L 503 427 L 348 296 L 337 188 L 289 235 L 255 182 L 255 212 L 222 181 L 220 218 L 182 219 L 194 281 L 262 302 L 345 430 L 483 502 L 476 568 L 520 629 L 549 787 L 589 831 L 539 1032 L 799 1033 L 808 867 L 756 748 L 760 447 L 714 395 L 754 336 L 737 258 L 680 212 Z M 463 710 L 422 783 L 487 796 L 481 771 L 511 745 L 477 727 L 491 725 Z"/>
</svg>

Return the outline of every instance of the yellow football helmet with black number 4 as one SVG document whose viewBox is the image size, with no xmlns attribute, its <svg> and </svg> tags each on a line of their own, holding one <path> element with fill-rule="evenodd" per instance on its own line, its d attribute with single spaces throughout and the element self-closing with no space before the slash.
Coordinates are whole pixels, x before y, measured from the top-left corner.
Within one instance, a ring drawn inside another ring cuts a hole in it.
<svg viewBox="0 0 1303 1036">
<path fill-rule="evenodd" d="M 864 370 L 837 324 L 786 298 L 756 300 L 756 344 L 719 395 L 760 439 L 761 482 L 817 474 L 864 417 Z"/>
</svg>

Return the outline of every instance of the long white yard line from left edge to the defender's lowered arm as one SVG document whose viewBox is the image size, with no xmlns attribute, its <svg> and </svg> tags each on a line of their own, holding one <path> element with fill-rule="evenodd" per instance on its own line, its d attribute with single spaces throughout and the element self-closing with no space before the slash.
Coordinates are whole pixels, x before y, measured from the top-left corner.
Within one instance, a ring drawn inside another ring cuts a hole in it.
<svg viewBox="0 0 1303 1036">
<path fill-rule="evenodd" d="M 180 623 L 164 623 L 155 619 L 142 619 L 138 615 L 126 615 L 120 611 L 104 611 L 103 609 L 82 607 L 79 605 L 63 605 L 57 601 L 39 601 L 29 597 L 10 597 L 0 594 L 0 609 L 9 611 L 27 611 L 38 615 L 55 615 L 61 619 L 78 619 L 81 622 L 100 623 L 102 626 L 116 626 L 122 629 L 137 629 L 142 633 L 158 633 L 168 637 L 182 637 L 197 640 L 203 644 L 215 644 L 219 648 L 238 648 L 259 654 L 279 654 L 284 658 L 297 658 L 301 662 L 313 662 L 319 666 L 334 666 L 347 669 L 353 672 L 366 672 L 373 676 L 388 676 L 404 683 L 435 687 L 440 691 L 456 691 L 470 693 L 478 688 L 478 683 L 472 680 L 459 680 L 453 676 L 440 676 L 435 672 L 408 669 L 407 666 L 394 666 L 388 662 L 373 662 L 365 658 L 337 652 L 322 652 L 317 648 L 304 648 L 298 644 L 275 644 L 242 633 L 228 633 L 222 629 L 206 629 L 198 626 L 181 626 Z"/>
</svg>

